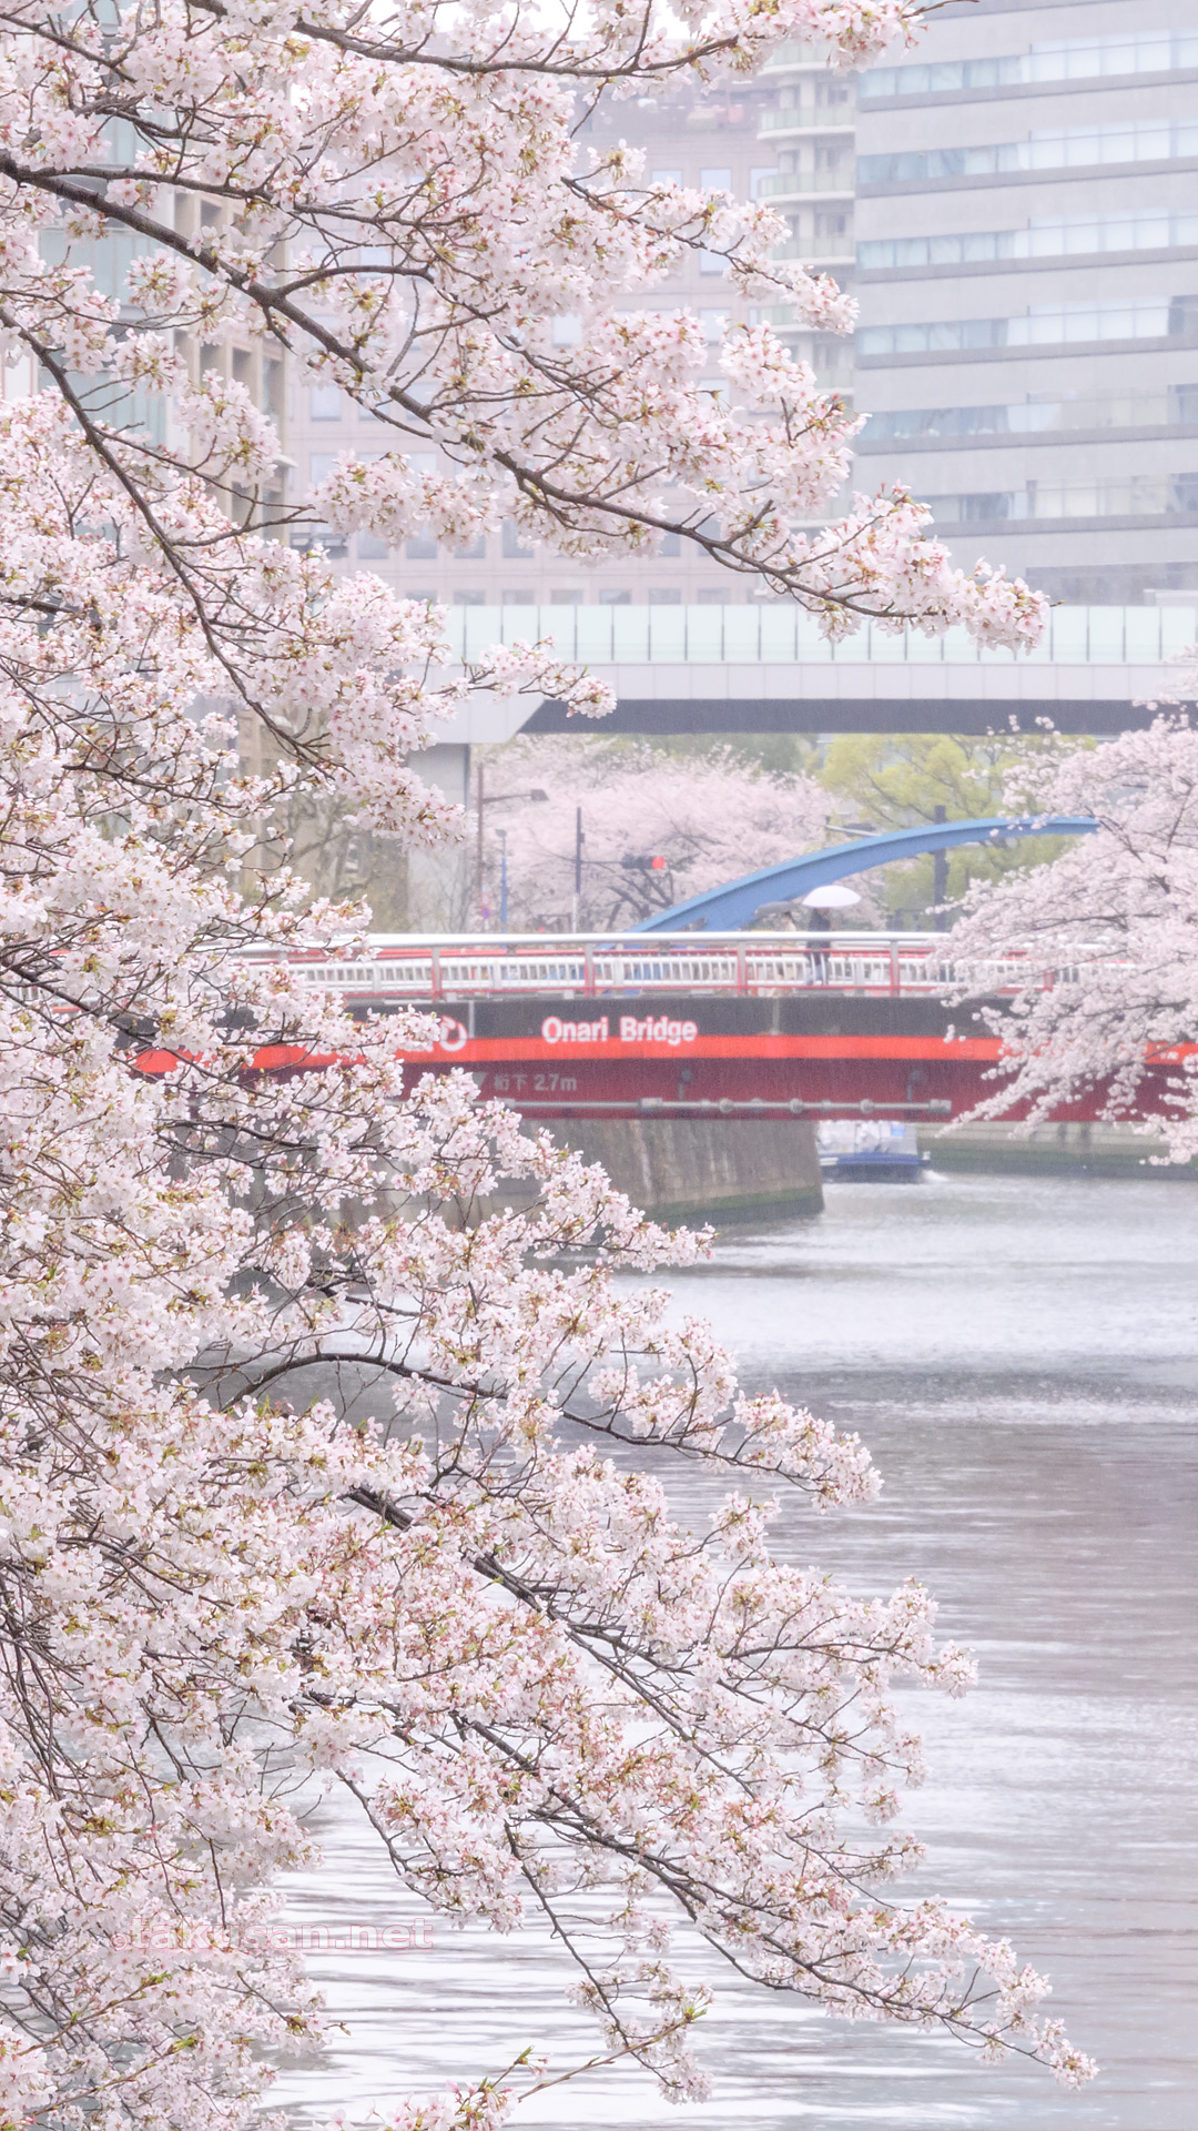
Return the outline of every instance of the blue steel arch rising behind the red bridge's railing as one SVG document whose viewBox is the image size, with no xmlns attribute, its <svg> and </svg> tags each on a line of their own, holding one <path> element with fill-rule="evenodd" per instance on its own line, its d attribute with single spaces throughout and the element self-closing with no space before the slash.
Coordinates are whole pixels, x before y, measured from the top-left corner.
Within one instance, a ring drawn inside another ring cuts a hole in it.
<svg viewBox="0 0 1198 2131">
<path fill-rule="evenodd" d="M 1098 829 L 1089 814 L 1036 814 L 993 820 L 946 820 L 927 823 L 921 829 L 891 829 L 885 835 L 861 835 L 853 844 L 831 844 L 827 850 L 812 850 L 804 859 L 784 859 L 782 865 L 765 865 L 759 874 L 742 874 L 727 880 L 723 889 L 708 889 L 686 904 L 674 904 L 652 918 L 642 918 L 633 931 L 682 931 L 686 927 L 712 931 L 740 931 L 750 925 L 761 904 L 787 901 L 795 895 L 810 895 L 846 874 L 863 874 L 870 865 L 885 865 L 889 859 L 917 859 L 925 850 L 953 850 L 955 844 L 989 844 L 991 837 L 1006 842 L 1013 835 L 1087 835 Z"/>
</svg>

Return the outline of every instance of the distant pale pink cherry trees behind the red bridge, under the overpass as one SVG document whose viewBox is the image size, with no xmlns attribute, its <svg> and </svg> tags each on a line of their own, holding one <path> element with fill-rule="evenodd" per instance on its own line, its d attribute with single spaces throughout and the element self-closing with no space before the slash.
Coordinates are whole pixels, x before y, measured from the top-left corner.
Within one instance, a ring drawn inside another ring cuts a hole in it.
<svg viewBox="0 0 1198 2131">
<path fill-rule="evenodd" d="M 731 748 L 671 754 L 622 739 L 520 739 L 497 757 L 520 797 L 495 808 L 507 840 L 507 910 L 514 929 L 565 931 L 573 923 L 576 837 L 582 810 L 578 925 L 635 925 L 825 842 L 829 795 L 804 776 L 778 776 Z M 495 876 L 495 855 L 490 863 Z"/>
</svg>

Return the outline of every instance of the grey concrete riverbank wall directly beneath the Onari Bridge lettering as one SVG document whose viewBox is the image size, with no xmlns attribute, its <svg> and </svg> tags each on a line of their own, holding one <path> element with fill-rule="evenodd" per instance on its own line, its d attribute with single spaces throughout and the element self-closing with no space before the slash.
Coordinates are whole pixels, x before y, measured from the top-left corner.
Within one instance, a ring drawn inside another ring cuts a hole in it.
<svg viewBox="0 0 1198 2131">
<path fill-rule="evenodd" d="M 718 1223 L 823 1208 L 814 1125 L 802 1117 L 582 1119 L 552 1134 L 601 1161 L 616 1189 L 654 1219 Z"/>
</svg>

